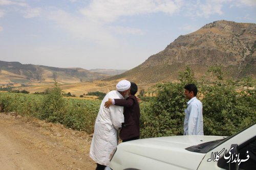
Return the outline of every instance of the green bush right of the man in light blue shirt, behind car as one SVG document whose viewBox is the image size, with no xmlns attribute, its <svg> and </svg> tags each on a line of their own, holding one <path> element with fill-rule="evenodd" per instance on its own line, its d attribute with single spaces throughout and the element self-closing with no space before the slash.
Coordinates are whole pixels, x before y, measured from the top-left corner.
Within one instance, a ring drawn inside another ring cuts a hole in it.
<svg viewBox="0 0 256 170">
<path fill-rule="evenodd" d="M 203 86 L 205 135 L 232 135 L 256 122 L 254 90 L 236 90 L 232 84 Z"/>
</svg>

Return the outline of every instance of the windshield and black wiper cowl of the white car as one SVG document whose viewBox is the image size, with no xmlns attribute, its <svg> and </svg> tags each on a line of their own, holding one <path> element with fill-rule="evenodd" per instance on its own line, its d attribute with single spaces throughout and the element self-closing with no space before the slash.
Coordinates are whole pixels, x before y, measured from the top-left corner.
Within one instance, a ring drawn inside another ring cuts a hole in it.
<svg viewBox="0 0 256 170">
<path fill-rule="evenodd" d="M 255 125 L 255 124 L 253 124 L 253 125 Z M 253 125 L 249 126 L 248 128 L 252 127 Z M 248 128 L 245 128 L 242 131 L 240 131 L 240 132 L 238 132 L 236 134 L 233 134 L 232 136 L 223 137 L 223 139 L 213 140 L 213 141 L 201 143 L 201 144 L 198 144 L 198 145 L 194 145 L 192 147 L 186 148 L 186 150 L 191 151 L 191 152 L 197 152 L 197 153 L 207 153 L 210 150 L 218 147 L 218 145 L 220 145 L 221 143 L 229 140 L 230 138 L 238 135 L 239 133 L 243 132 L 244 130 L 246 130 Z"/>
</svg>

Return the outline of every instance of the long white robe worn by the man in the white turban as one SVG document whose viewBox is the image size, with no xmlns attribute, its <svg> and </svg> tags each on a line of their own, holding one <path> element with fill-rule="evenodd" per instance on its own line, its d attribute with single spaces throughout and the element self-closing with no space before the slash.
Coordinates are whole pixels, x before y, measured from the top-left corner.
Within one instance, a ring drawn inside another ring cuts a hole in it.
<svg viewBox="0 0 256 170">
<path fill-rule="evenodd" d="M 112 105 L 105 108 L 104 103 L 110 99 L 124 99 L 117 91 L 110 91 L 101 102 L 94 125 L 90 157 L 101 165 L 109 165 L 111 152 L 117 147 L 117 130 L 124 122 L 123 107 Z"/>
</svg>

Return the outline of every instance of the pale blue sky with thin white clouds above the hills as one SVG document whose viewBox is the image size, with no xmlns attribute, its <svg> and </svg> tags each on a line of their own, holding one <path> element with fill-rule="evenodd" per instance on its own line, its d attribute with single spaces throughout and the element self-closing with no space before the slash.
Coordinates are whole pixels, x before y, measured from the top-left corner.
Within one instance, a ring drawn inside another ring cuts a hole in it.
<svg viewBox="0 0 256 170">
<path fill-rule="evenodd" d="M 132 69 L 223 19 L 256 23 L 256 0 L 0 0 L 0 60 Z"/>
</svg>

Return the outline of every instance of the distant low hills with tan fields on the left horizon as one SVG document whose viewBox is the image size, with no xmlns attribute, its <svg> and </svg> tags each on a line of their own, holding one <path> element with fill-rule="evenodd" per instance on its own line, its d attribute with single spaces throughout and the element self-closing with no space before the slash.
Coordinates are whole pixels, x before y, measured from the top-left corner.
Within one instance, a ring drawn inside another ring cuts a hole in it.
<svg viewBox="0 0 256 170">
<path fill-rule="evenodd" d="M 79 83 L 109 77 L 83 68 L 58 68 L 44 65 L 0 61 L 0 84 Z"/>
</svg>

